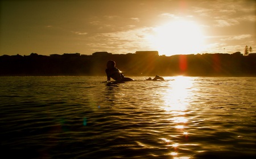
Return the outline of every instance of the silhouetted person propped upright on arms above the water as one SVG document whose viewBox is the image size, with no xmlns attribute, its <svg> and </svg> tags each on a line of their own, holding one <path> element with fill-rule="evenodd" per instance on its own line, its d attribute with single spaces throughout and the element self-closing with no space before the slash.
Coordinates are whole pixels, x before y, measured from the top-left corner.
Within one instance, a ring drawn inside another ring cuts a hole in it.
<svg viewBox="0 0 256 159">
<path fill-rule="evenodd" d="M 123 82 L 123 81 L 133 81 L 134 79 L 131 78 L 126 78 L 122 71 L 118 70 L 117 67 L 115 67 L 115 62 L 113 60 L 108 61 L 107 63 L 107 68 L 106 68 L 106 75 L 107 75 L 107 80 L 110 82 L 110 79 L 114 79 L 115 81 Z"/>
</svg>

